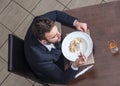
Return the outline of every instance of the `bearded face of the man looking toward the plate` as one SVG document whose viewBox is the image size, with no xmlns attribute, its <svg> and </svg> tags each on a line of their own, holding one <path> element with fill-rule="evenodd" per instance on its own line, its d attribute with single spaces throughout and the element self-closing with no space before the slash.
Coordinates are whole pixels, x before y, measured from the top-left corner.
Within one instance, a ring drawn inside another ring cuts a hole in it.
<svg viewBox="0 0 120 86">
<path fill-rule="evenodd" d="M 54 25 L 50 32 L 45 33 L 45 37 L 48 43 L 57 43 L 61 41 L 61 33 L 58 31 L 56 25 Z"/>
</svg>

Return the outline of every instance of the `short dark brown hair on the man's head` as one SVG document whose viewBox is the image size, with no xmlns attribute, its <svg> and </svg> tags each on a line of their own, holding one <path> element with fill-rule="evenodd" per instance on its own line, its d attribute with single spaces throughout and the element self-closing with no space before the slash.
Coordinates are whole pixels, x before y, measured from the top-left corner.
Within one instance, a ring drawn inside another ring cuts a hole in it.
<svg viewBox="0 0 120 86">
<path fill-rule="evenodd" d="M 50 32 L 51 28 L 54 26 L 54 21 L 48 18 L 40 18 L 35 20 L 32 26 L 32 32 L 35 37 L 39 40 L 46 39 L 45 33 Z"/>
</svg>

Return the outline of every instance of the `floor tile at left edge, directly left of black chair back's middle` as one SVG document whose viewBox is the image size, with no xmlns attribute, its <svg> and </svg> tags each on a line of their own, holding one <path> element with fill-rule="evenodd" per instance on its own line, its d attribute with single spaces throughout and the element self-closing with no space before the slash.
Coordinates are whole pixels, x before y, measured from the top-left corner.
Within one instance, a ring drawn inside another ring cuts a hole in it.
<svg viewBox="0 0 120 86">
<path fill-rule="evenodd" d="M 0 48 L 0 56 L 7 62 L 8 61 L 8 41 Z"/>
</svg>

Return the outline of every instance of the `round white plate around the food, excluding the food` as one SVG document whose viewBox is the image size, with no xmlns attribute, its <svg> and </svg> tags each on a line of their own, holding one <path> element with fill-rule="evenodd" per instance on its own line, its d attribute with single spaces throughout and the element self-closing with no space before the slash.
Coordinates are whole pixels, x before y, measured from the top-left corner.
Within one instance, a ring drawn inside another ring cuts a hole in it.
<svg viewBox="0 0 120 86">
<path fill-rule="evenodd" d="M 62 42 L 62 53 L 70 61 L 75 61 L 76 58 L 78 58 L 78 51 L 73 53 L 69 50 L 70 42 L 76 38 L 80 38 L 82 40 L 80 43 L 80 50 L 86 57 L 91 54 L 93 49 L 92 39 L 87 33 L 80 31 L 69 33 Z"/>
</svg>

